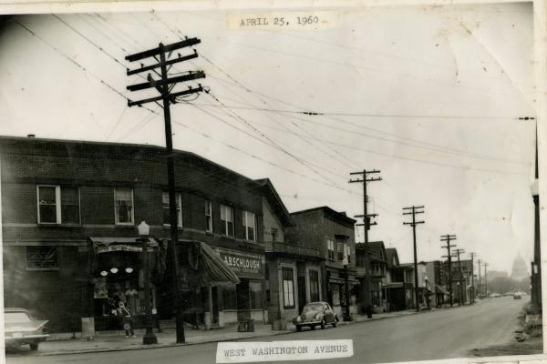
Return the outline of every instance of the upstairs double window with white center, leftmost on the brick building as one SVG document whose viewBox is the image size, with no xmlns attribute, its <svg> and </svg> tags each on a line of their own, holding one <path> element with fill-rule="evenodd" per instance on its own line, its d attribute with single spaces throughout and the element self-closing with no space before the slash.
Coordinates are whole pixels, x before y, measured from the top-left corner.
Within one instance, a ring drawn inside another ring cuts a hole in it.
<svg viewBox="0 0 547 364">
<path fill-rule="evenodd" d="M 79 224 L 78 187 L 38 186 L 38 223 Z"/>
</svg>

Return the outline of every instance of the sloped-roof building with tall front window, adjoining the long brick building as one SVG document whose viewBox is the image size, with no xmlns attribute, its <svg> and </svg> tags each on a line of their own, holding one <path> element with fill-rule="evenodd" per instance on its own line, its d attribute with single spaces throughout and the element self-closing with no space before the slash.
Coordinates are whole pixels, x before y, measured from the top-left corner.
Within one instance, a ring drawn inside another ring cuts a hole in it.
<svg viewBox="0 0 547 364">
<path fill-rule="evenodd" d="M 324 298 L 319 248 L 305 240 L 289 243 L 285 230 L 295 227 L 294 218 L 269 179 L 263 185 L 263 234 L 265 245 L 265 287 L 268 322 L 290 320 L 308 302 Z"/>
</svg>

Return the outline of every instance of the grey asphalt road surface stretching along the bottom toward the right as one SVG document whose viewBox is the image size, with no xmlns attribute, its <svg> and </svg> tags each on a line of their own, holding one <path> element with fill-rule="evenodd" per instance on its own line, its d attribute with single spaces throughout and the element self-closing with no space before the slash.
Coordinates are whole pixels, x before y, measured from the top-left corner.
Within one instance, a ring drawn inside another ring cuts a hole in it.
<svg viewBox="0 0 547 364">
<path fill-rule="evenodd" d="M 514 342 L 517 316 L 529 301 L 512 297 L 489 298 L 473 306 L 423 312 L 395 319 L 381 319 L 338 326 L 303 329 L 259 341 L 353 339 L 355 355 L 325 359 L 338 363 L 381 363 L 411 360 L 454 359 L 470 356 L 470 350 Z M 253 341 L 253 340 L 246 340 Z M 214 363 L 216 344 L 164 349 L 114 351 L 54 357 L 21 357 L 8 354 L 7 363 Z M 298 361 L 292 361 L 298 362 Z M 307 362 L 307 361 L 302 361 Z"/>
</svg>

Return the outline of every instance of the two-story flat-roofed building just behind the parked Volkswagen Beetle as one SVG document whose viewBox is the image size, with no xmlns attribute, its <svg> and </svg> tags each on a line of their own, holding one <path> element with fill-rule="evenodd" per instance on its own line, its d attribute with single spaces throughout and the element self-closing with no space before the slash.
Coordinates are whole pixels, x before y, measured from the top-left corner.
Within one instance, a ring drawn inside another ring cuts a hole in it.
<svg viewBox="0 0 547 364">
<path fill-rule="evenodd" d="M 321 298 L 328 301 L 338 319 L 346 313 L 346 275 L 349 288 L 349 311 L 356 314 L 356 220 L 330 207 L 315 207 L 291 214 L 294 227 L 285 231 L 290 244 L 319 249 L 321 261 Z M 347 271 L 343 260 L 347 258 Z"/>
</svg>

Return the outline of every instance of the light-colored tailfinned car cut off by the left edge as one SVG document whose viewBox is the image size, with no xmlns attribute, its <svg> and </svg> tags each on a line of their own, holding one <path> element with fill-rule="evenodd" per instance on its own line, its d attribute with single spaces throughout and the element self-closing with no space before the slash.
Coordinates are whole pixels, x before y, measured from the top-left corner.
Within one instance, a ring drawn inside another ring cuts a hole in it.
<svg viewBox="0 0 547 364">
<path fill-rule="evenodd" d="M 49 337 L 46 323 L 33 320 L 25 308 L 4 308 L 5 346 L 15 347 L 28 344 L 36 351 L 38 344 Z"/>
</svg>

